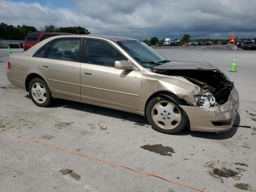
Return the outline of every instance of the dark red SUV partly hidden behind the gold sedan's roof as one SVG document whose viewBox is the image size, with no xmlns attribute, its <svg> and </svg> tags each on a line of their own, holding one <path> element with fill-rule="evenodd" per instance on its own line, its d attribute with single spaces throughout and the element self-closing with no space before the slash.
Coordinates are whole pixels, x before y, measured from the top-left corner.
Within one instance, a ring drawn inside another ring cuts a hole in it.
<svg viewBox="0 0 256 192">
<path fill-rule="evenodd" d="M 24 51 L 28 50 L 30 47 L 34 46 L 35 44 L 39 43 L 40 41 L 47 39 L 52 36 L 56 35 L 75 35 L 74 33 L 49 33 L 49 32 L 34 32 L 29 33 L 26 36 L 24 41 Z"/>
</svg>

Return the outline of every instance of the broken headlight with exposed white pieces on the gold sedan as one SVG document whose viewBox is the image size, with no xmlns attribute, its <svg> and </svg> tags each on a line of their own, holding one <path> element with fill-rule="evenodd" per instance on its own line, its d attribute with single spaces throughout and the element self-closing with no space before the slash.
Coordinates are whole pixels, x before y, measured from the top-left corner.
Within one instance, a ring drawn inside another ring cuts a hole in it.
<svg viewBox="0 0 256 192">
<path fill-rule="evenodd" d="M 195 100 L 197 106 L 201 108 L 214 107 L 217 104 L 214 96 L 209 91 L 203 92 L 202 95 L 195 95 Z"/>
</svg>

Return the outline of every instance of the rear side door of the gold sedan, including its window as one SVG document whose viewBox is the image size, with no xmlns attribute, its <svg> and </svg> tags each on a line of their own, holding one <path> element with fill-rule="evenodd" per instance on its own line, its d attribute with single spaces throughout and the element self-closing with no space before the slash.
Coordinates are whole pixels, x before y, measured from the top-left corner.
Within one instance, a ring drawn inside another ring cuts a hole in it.
<svg viewBox="0 0 256 192">
<path fill-rule="evenodd" d="M 81 38 L 58 38 L 40 62 L 53 95 L 80 100 Z"/>
</svg>

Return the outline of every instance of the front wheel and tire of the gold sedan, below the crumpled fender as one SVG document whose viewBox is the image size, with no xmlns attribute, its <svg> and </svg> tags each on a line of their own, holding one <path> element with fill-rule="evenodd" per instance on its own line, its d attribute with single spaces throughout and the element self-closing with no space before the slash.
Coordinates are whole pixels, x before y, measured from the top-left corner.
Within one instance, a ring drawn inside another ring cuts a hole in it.
<svg viewBox="0 0 256 192">
<path fill-rule="evenodd" d="M 184 111 L 174 100 L 164 96 L 148 102 L 146 117 L 152 128 L 161 133 L 178 134 L 187 127 Z"/>
</svg>

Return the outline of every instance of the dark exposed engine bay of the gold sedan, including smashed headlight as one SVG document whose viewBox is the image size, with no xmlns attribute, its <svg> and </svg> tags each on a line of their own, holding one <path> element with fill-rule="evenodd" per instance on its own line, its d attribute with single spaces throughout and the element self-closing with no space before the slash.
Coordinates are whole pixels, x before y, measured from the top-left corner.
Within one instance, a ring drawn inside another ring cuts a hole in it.
<svg viewBox="0 0 256 192">
<path fill-rule="evenodd" d="M 154 70 L 156 73 L 182 76 L 190 82 L 200 86 L 202 95 L 195 96 L 199 107 L 209 108 L 227 102 L 234 87 L 234 82 L 218 70 Z"/>
</svg>

